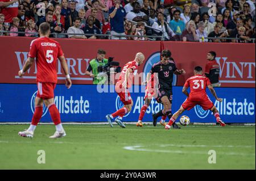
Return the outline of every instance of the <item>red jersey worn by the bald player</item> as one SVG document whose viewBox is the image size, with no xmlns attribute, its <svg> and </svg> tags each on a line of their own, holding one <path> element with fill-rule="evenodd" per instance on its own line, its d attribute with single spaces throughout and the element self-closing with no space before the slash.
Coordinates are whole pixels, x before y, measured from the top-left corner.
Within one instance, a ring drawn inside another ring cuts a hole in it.
<svg viewBox="0 0 256 181">
<path fill-rule="evenodd" d="M 133 84 L 133 77 L 134 75 L 137 74 L 137 71 L 138 71 L 138 63 L 134 60 L 134 61 L 130 61 L 128 62 L 124 67 L 123 67 L 123 70 L 121 72 L 121 75 L 119 77 L 119 81 L 118 82 L 123 82 L 125 81 L 125 73 L 128 69 L 131 69 L 132 70 L 132 74 L 129 75 L 129 78 L 128 78 L 128 82 L 127 82 L 127 88 L 130 88 L 131 85 Z"/>
</svg>

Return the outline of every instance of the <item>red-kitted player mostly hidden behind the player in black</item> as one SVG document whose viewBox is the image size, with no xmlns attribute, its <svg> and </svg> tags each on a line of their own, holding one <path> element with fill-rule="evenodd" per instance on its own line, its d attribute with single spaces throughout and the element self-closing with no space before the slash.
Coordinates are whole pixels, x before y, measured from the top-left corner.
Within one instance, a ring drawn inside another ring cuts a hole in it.
<svg viewBox="0 0 256 181">
<path fill-rule="evenodd" d="M 144 114 L 148 108 L 148 106 L 151 103 L 152 98 L 157 98 L 158 92 L 156 88 L 158 88 L 158 82 L 156 81 L 156 75 L 148 73 L 146 78 L 146 89 L 145 89 L 145 96 L 144 96 L 144 105 L 141 108 L 141 113 L 139 113 L 139 119 L 138 123 L 136 124 L 137 127 L 142 127 L 142 119 L 144 117 Z M 162 116 L 162 120 L 160 120 L 160 124 L 165 126 L 166 123 L 164 121 L 166 120 L 167 115 Z"/>
</svg>

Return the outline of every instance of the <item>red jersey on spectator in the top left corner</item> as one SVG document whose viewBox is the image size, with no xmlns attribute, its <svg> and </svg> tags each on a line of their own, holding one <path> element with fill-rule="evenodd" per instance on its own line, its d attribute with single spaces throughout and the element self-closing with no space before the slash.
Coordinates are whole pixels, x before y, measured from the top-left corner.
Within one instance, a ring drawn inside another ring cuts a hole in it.
<svg viewBox="0 0 256 181">
<path fill-rule="evenodd" d="M 11 0 L 0 0 L 0 2 L 10 2 Z M 15 2 L 12 5 L 1 7 L 0 14 L 5 15 L 5 23 L 12 23 L 13 18 L 18 15 L 19 2 Z"/>
</svg>

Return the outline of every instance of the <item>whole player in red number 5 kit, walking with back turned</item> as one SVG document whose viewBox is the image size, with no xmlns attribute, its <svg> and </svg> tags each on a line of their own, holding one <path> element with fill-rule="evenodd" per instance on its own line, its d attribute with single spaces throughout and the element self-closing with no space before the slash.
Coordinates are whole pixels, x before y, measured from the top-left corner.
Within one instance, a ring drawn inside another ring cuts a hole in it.
<svg viewBox="0 0 256 181">
<path fill-rule="evenodd" d="M 35 98 L 35 112 L 32 117 L 32 123 L 30 127 L 18 134 L 23 137 L 33 137 L 36 125 L 38 125 L 42 114 L 43 104 L 48 107 L 52 121 L 56 126 L 56 132 L 50 136 L 50 138 L 58 138 L 66 135 L 60 121 L 60 113 L 54 103 L 54 94 L 57 83 L 56 63 L 59 58 L 61 66 L 66 75 L 65 85 L 69 89 L 72 85 L 70 76 L 68 74 L 68 65 L 65 60 L 64 54 L 61 50 L 60 44 L 57 41 L 49 39 L 50 26 L 48 23 L 42 23 L 39 26 L 38 39 L 31 41 L 30 52 L 28 53 L 28 59 L 24 64 L 22 70 L 19 71 L 19 77 L 22 77 L 24 73 L 31 67 L 36 59 L 36 82 L 38 85 L 38 93 Z"/>
</svg>

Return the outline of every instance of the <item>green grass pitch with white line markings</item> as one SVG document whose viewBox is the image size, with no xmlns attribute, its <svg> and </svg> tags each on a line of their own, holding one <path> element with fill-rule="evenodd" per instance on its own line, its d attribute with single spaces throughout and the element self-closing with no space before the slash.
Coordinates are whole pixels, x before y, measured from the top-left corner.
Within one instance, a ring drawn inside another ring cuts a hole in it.
<svg viewBox="0 0 256 181">
<path fill-rule="evenodd" d="M 53 140 L 54 125 L 39 125 L 32 139 L 18 136 L 26 128 L 0 125 L 0 169 L 255 169 L 255 126 L 64 125 L 67 136 Z"/>
</svg>

